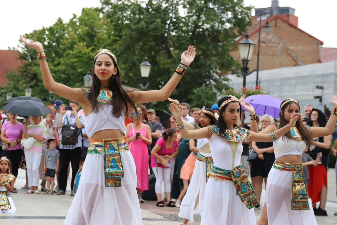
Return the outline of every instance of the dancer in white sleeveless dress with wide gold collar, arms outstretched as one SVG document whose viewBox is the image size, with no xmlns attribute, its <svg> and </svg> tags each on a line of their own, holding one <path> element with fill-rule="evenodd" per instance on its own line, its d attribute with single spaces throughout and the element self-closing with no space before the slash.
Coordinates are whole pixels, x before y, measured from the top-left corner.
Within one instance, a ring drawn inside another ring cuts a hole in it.
<svg viewBox="0 0 337 225">
<path fill-rule="evenodd" d="M 254 108 L 249 104 L 243 105 L 252 114 L 251 125 L 257 129 Z M 292 115 L 289 124 L 268 135 L 250 132 L 237 126 L 241 117 L 241 105 L 236 97 L 227 95 L 219 100 L 218 106 L 220 115 L 216 125 L 197 131 L 188 131 L 185 128 L 178 114 L 181 110 L 174 103 L 171 103 L 169 108 L 177 119 L 182 137 L 209 139 L 214 164 L 211 166 L 210 178 L 206 185 L 201 224 L 254 225 L 256 220 L 252 208 L 258 202 L 240 162 L 242 141 L 272 141 L 290 130 L 300 114 Z"/>
</svg>

